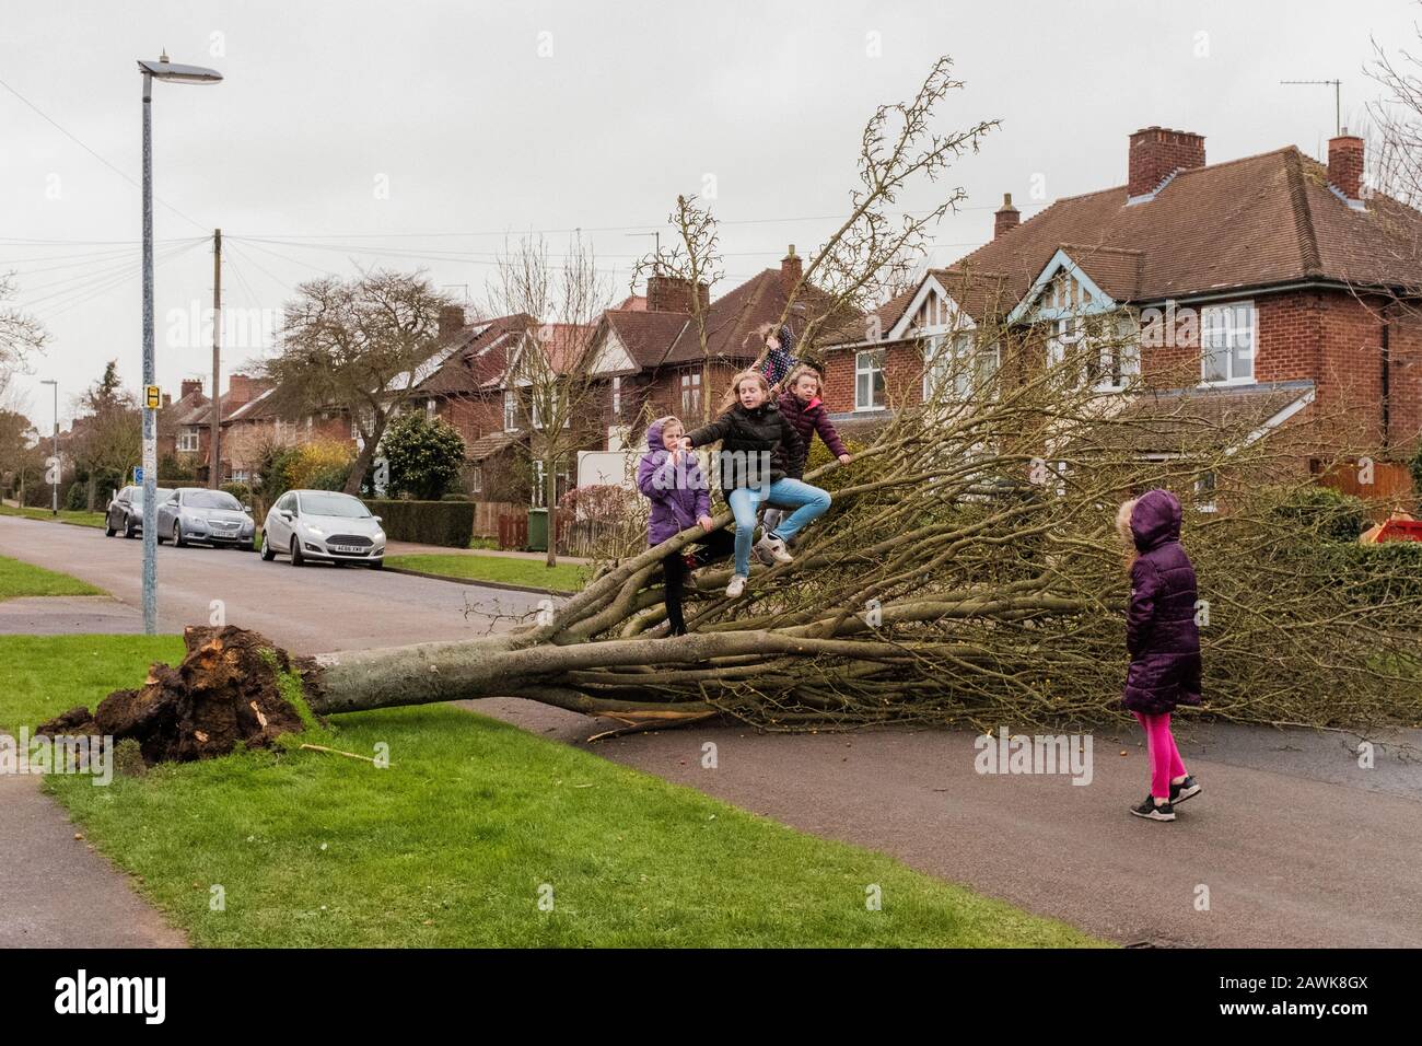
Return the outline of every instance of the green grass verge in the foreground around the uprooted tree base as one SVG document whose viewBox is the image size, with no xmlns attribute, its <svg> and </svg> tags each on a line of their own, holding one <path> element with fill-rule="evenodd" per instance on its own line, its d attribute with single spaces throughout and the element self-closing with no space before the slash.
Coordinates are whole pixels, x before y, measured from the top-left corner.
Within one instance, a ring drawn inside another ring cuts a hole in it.
<svg viewBox="0 0 1422 1046">
<path fill-rule="evenodd" d="M 0 722 L 92 706 L 178 652 L 176 638 L 0 636 L 24 666 Z M 385 743 L 391 767 L 286 746 L 46 787 L 196 945 L 1099 944 L 449 706 L 337 716 L 306 740 Z"/>
</svg>

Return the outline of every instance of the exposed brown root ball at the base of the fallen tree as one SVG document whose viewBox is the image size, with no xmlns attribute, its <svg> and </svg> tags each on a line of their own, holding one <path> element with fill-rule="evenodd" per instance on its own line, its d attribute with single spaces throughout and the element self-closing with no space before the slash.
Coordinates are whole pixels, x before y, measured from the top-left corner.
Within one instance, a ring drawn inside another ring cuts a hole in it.
<svg viewBox="0 0 1422 1046">
<path fill-rule="evenodd" d="M 277 673 L 286 652 L 256 632 L 232 625 L 189 626 L 178 667 L 154 665 L 138 690 L 115 690 L 90 716 L 71 709 L 40 733 L 108 734 L 138 741 L 144 761 L 189 761 L 232 751 L 239 741 L 266 747 L 301 730 L 296 707 L 282 696 Z"/>
</svg>

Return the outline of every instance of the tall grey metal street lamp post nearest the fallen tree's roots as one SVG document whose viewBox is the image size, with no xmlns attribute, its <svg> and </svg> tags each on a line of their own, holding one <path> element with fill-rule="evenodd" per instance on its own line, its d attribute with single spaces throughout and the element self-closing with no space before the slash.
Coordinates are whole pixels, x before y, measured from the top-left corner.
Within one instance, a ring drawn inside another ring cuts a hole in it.
<svg viewBox="0 0 1422 1046">
<path fill-rule="evenodd" d="M 175 65 L 164 54 L 158 61 L 138 61 L 144 74 L 144 632 L 158 632 L 158 414 L 146 396 L 154 386 L 154 80 L 176 84 L 215 84 L 216 70 Z M 216 393 L 216 390 L 213 390 Z"/>
</svg>

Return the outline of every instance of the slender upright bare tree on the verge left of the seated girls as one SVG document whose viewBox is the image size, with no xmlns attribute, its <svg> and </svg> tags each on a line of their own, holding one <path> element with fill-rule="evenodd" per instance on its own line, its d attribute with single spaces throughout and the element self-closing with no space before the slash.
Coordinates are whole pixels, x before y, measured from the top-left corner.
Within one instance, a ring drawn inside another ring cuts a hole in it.
<svg viewBox="0 0 1422 1046">
<path fill-rule="evenodd" d="M 528 453 L 535 497 L 547 509 L 547 565 L 557 562 L 559 475 L 577 468 L 577 451 L 600 443 L 609 390 L 604 343 L 597 337 L 611 305 L 611 282 L 580 236 L 562 263 L 542 238 L 506 246 L 498 259 L 493 315 L 535 317 L 509 360 L 505 389 L 530 427 Z"/>
</svg>

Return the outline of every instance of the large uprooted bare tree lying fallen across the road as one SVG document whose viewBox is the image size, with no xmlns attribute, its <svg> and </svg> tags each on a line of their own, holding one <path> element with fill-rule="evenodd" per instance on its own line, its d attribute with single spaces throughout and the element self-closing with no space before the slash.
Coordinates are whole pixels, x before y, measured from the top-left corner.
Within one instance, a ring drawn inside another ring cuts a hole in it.
<svg viewBox="0 0 1422 1046">
<path fill-rule="evenodd" d="M 990 127 L 929 130 L 954 87 L 940 63 L 910 105 L 880 110 L 866 128 L 866 188 L 846 226 L 862 235 L 836 233 L 819 269 L 830 287 L 813 295 L 819 330 L 840 342 L 876 336 L 859 296 L 921 231 L 889 232 L 883 208 L 903 178 L 937 176 Z M 1342 517 L 1358 505 L 1305 497 L 1317 491 L 1310 460 L 1327 472 L 1368 448 L 1340 450 L 1347 426 L 1317 406 L 1271 428 L 1287 404 L 1268 397 L 1156 397 L 1126 366 L 1139 363 L 1145 317 L 1088 319 L 1069 352 L 1049 353 L 1047 330 L 990 323 L 961 349 L 926 350 L 921 371 L 886 389 L 892 421 L 849 465 L 806 475 L 835 504 L 801 535 L 795 562 L 755 566 L 735 601 L 724 596 L 728 569 L 700 571 L 690 635 L 661 633 L 660 569 L 700 528 L 610 559 L 562 605 L 469 640 L 303 660 L 240 629 L 189 629 L 181 666 L 109 696 L 92 724 L 137 737 L 155 760 L 270 743 L 299 729 L 303 702 L 326 716 L 512 696 L 633 724 L 729 716 L 775 730 L 1099 722 L 1121 714 L 1126 670 L 1115 509 L 1153 487 L 1187 508 L 1207 714 L 1354 729 L 1422 720 L 1422 562 L 1345 554 L 1354 524 Z M 1103 361 L 1121 377 L 1109 391 Z M 1152 371 L 1156 387 L 1197 381 L 1197 360 Z M 714 518 L 728 522 L 727 511 Z M 75 710 L 53 726 L 88 722 Z"/>
</svg>

